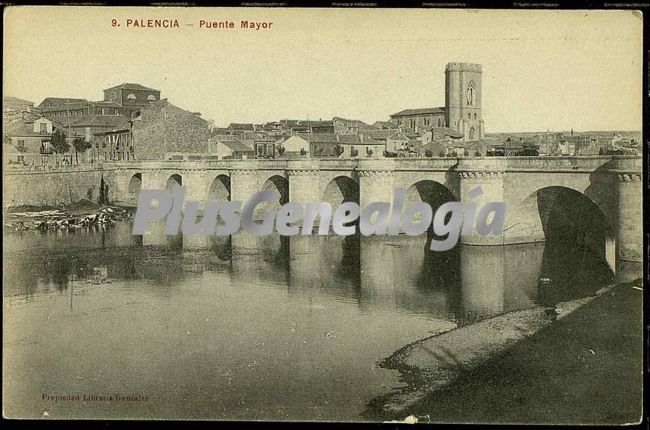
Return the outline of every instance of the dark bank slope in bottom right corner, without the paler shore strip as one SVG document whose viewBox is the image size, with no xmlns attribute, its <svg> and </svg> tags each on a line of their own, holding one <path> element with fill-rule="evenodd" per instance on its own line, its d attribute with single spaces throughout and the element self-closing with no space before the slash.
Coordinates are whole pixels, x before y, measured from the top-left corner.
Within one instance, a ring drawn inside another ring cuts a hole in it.
<svg viewBox="0 0 650 430">
<path fill-rule="evenodd" d="M 640 282 L 619 284 L 565 318 L 461 372 L 399 411 L 419 422 L 624 424 L 641 418 Z"/>
</svg>

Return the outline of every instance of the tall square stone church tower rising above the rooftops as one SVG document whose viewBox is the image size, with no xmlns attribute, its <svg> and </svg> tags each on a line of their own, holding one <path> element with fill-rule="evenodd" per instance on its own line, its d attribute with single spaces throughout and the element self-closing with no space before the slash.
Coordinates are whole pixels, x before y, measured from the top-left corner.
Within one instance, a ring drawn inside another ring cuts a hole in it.
<svg viewBox="0 0 650 430">
<path fill-rule="evenodd" d="M 445 69 L 445 122 L 463 140 L 483 138 L 481 115 L 481 65 L 448 63 Z"/>
</svg>

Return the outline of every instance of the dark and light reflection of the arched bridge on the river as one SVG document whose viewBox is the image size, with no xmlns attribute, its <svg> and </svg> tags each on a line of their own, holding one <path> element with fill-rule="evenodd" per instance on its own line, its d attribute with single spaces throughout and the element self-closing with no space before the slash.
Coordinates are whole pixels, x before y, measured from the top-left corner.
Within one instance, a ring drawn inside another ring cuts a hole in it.
<svg viewBox="0 0 650 430">
<path fill-rule="evenodd" d="M 64 291 L 72 279 L 148 280 L 159 286 L 216 271 L 233 282 L 286 288 L 290 295 L 332 296 L 362 310 L 406 312 L 471 323 L 536 304 L 593 294 L 612 279 L 588 241 L 550 235 L 548 242 L 429 250 L 426 237 L 166 236 L 155 224 L 143 237 L 128 223 L 113 229 L 11 235 L 5 265 L 12 294 Z M 540 279 L 545 282 L 540 282 Z M 104 280 L 105 281 L 105 280 Z M 99 280 L 99 282 L 104 282 Z M 20 293 L 17 290 L 22 290 Z"/>
</svg>

